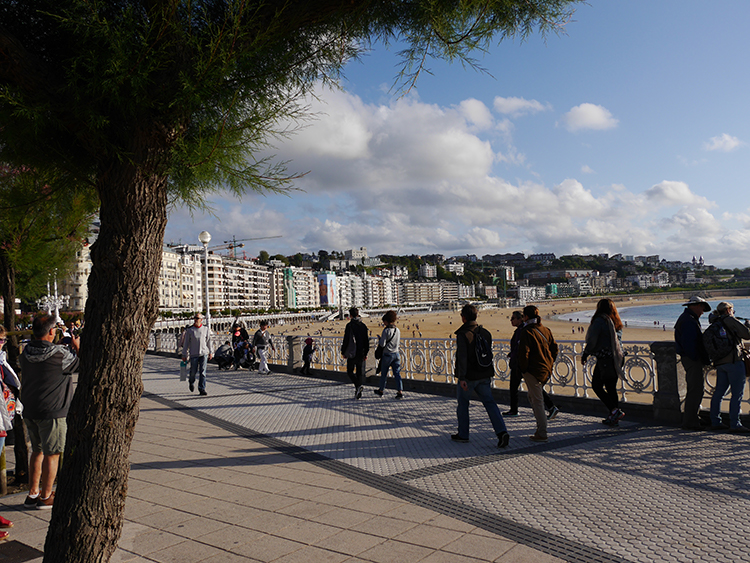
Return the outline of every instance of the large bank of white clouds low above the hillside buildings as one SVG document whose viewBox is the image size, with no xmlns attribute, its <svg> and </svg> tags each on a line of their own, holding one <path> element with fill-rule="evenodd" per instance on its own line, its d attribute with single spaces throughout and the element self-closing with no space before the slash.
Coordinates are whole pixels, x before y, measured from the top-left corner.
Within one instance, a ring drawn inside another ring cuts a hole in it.
<svg viewBox="0 0 750 563">
<path fill-rule="evenodd" d="M 249 256 L 366 246 L 373 254 L 702 254 L 742 265 L 750 255 L 750 210 L 716 217 L 717 205 L 685 181 L 645 191 L 601 186 L 589 166 L 559 183 L 529 181 L 534 171 L 501 177 L 524 155 L 509 141 L 513 123 L 493 120 L 478 100 L 445 107 L 416 96 L 387 104 L 321 97 L 326 104 L 311 103 L 317 119 L 277 151 L 293 170 L 310 171 L 295 182 L 303 192 L 219 198 L 215 217 L 195 220 L 173 211 L 167 240 L 194 241 L 203 229 L 217 241 L 283 235 L 249 243 Z"/>
</svg>

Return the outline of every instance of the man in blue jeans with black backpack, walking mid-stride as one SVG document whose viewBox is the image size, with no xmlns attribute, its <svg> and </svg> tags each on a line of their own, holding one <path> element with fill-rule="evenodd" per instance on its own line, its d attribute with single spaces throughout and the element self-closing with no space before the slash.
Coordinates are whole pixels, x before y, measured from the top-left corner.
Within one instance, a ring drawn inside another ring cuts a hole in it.
<svg viewBox="0 0 750 563">
<path fill-rule="evenodd" d="M 492 362 L 492 335 L 477 324 L 477 308 L 464 305 L 461 309 L 463 325 L 456 331 L 456 370 L 458 379 L 456 394 L 458 407 L 458 433 L 451 435 L 454 442 L 469 441 L 469 399 L 474 391 L 490 417 L 492 428 L 497 435 L 498 448 L 505 448 L 510 435 L 505 428 L 503 415 L 492 396 L 492 377 L 495 368 Z"/>
</svg>

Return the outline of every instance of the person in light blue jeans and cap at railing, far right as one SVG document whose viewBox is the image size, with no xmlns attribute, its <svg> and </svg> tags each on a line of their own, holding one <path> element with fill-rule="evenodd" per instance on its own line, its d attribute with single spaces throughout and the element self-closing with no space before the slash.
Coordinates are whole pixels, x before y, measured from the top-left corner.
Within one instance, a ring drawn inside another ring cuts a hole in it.
<svg viewBox="0 0 750 563">
<path fill-rule="evenodd" d="M 716 320 L 703 333 L 711 362 L 716 366 L 716 387 L 711 397 L 711 430 L 750 433 L 750 428 L 740 422 L 740 403 L 745 392 L 745 363 L 742 361 L 742 341 L 750 340 L 750 328 L 734 317 L 734 305 L 722 301 L 716 306 Z M 727 389 L 729 399 L 729 426 L 721 421 L 721 402 Z"/>
</svg>

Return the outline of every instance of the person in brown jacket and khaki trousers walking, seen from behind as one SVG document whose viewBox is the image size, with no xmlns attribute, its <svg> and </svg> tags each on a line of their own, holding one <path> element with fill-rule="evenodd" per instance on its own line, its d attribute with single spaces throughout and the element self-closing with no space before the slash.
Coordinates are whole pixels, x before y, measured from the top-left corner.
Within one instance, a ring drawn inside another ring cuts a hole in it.
<svg viewBox="0 0 750 563">
<path fill-rule="evenodd" d="M 547 441 L 547 413 L 544 410 L 542 391 L 547 383 L 557 358 L 557 342 L 552 331 L 542 325 L 539 309 L 534 305 L 523 308 L 523 332 L 518 343 L 518 365 L 526 383 L 526 389 L 536 419 L 536 432 L 529 436 L 532 442 Z"/>
</svg>

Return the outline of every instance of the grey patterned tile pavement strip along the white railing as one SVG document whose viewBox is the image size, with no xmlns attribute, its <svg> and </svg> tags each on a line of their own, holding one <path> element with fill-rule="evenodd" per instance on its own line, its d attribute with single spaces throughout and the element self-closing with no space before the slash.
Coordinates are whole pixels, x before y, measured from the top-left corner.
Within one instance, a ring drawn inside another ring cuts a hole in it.
<svg viewBox="0 0 750 563">
<path fill-rule="evenodd" d="M 146 393 L 248 439 L 314 462 L 566 561 L 750 561 L 748 438 L 561 413 L 535 444 L 530 409 L 497 440 L 472 403 L 471 442 L 451 442 L 455 401 L 209 366 L 207 397 L 179 361 L 147 356 Z M 389 382 L 390 383 L 390 382 Z M 627 409 L 624 408 L 627 412 Z M 626 418 L 627 420 L 627 418 Z M 712 525 L 705 524 L 710 517 Z"/>
</svg>

